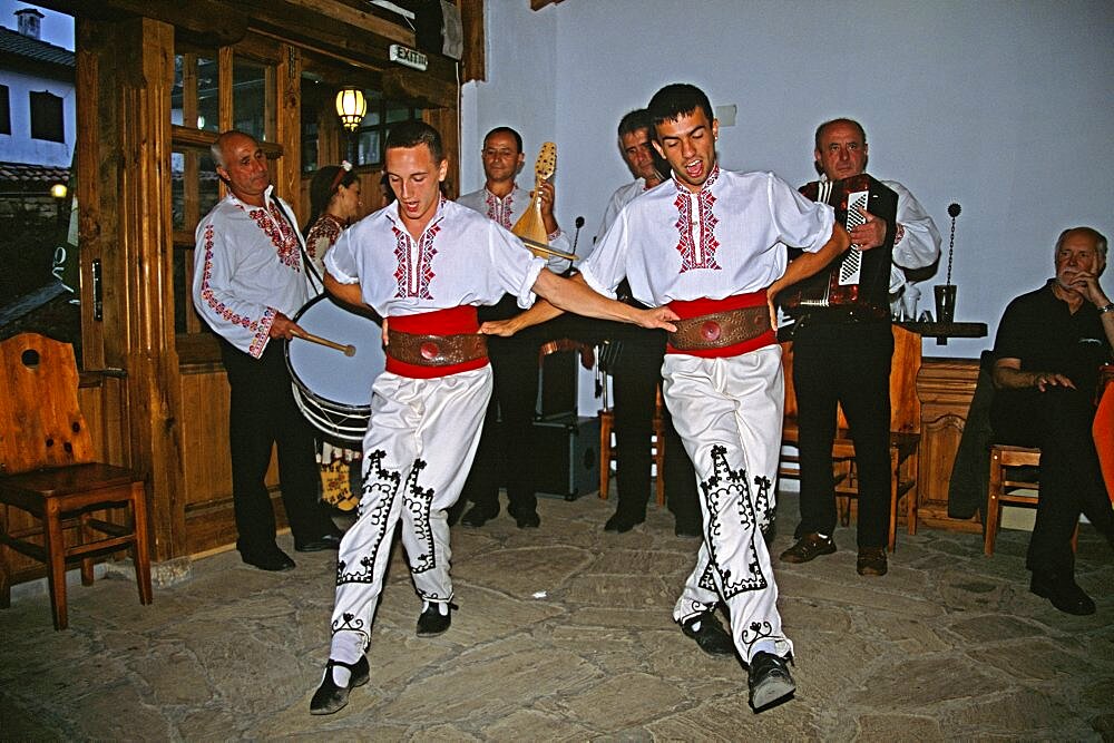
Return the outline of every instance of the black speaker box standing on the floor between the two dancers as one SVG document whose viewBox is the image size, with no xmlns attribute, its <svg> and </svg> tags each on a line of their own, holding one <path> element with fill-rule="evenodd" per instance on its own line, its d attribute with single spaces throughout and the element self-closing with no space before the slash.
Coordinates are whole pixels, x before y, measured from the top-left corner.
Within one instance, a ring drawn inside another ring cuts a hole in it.
<svg viewBox="0 0 1114 743">
<path fill-rule="evenodd" d="M 567 416 L 534 422 L 539 496 L 576 500 L 599 489 L 599 419 Z"/>
</svg>

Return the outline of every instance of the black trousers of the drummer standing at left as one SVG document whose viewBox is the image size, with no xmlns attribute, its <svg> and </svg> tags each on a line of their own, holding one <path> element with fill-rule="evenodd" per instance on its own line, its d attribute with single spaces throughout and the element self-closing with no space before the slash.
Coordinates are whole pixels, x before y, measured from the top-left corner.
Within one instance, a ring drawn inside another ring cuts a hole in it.
<svg viewBox="0 0 1114 743">
<path fill-rule="evenodd" d="M 335 527 L 317 502 L 313 430 L 294 402 L 283 343 L 271 341 L 260 359 L 224 341 L 221 350 L 232 388 L 228 440 L 237 549 L 245 557 L 275 549 L 275 517 L 265 482 L 275 443 L 283 506 L 295 541 L 332 534 Z"/>
</svg>

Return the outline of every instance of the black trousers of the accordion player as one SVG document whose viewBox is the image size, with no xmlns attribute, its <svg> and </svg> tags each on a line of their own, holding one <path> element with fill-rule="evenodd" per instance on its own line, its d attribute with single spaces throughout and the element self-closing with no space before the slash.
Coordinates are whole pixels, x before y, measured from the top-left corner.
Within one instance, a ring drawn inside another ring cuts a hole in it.
<svg viewBox="0 0 1114 743">
<path fill-rule="evenodd" d="M 887 542 L 890 514 L 890 359 L 888 322 L 798 323 L 793 336 L 801 460 L 801 524 L 797 536 L 836 530 L 832 442 L 836 407 L 854 442 L 859 479 L 859 548 Z"/>
</svg>

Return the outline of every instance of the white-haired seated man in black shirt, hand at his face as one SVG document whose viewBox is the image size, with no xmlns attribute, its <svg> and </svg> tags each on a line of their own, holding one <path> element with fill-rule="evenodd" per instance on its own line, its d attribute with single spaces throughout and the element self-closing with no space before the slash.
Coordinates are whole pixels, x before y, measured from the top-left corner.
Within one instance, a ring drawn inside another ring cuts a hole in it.
<svg viewBox="0 0 1114 743">
<path fill-rule="evenodd" d="M 1114 345 L 1114 303 L 1098 285 L 1106 245 L 1091 227 L 1065 229 L 1056 242 L 1056 277 L 1009 303 L 994 344 L 995 433 L 1040 448 L 1029 589 L 1068 614 L 1095 612 L 1074 577 L 1071 540 L 1079 514 L 1114 544 L 1114 512 L 1091 432 L 1098 368 Z"/>
</svg>

